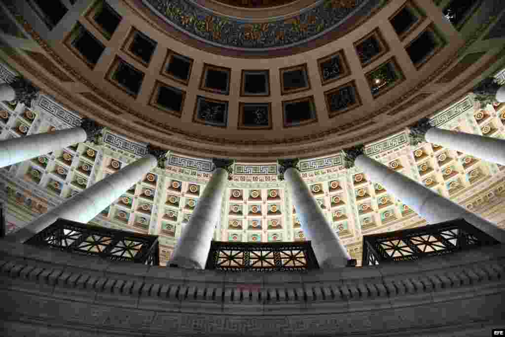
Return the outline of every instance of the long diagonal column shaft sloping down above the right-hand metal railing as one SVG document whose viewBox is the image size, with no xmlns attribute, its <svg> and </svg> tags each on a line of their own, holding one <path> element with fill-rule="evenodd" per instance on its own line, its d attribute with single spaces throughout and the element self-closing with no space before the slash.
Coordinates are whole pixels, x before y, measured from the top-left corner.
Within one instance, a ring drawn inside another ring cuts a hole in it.
<svg viewBox="0 0 505 337">
<path fill-rule="evenodd" d="M 438 143 L 438 142 L 437 142 Z M 467 211 L 460 205 L 439 196 L 430 188 L 398 173 L 378 161 L 360 155 L 356 158 L 359 166 L 372 181 L 380 182 L 391 194 L 408 205 L 429 224 L 463 218 L 468 223 L 505 243 L 505 230 Z"/>
</svg>

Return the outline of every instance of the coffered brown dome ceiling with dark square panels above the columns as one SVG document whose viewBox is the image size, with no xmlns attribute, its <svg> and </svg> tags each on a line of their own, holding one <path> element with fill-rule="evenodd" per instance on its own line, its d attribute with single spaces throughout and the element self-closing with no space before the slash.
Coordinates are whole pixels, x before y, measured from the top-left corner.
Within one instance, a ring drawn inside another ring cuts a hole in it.
<svg viewBox="0 0 505 337">
<path fill-rule="evenodd" d="M 44 14 L 11 1 L 8 9 L 35 41 L 12 60 L 83 116 L 168 150 L 262 162 L 371 142 L 463 97 L 505 55 L 493 41 L 505 5 L 483 3 L 96 0 Z"/>
</svg>

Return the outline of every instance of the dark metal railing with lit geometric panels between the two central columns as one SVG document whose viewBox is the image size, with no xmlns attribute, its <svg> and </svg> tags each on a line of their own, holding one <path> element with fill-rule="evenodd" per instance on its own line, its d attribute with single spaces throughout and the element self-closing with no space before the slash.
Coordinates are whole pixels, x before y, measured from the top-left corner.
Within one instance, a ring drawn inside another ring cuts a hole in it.
<svg viewBox="0 0 505 337">
<path fill-rule="evenodd" d="M 300 271 L 318 269 L 311 242 L 230 243 L 213 241 L 206 269 L 218 271 Z"/>
</svg>

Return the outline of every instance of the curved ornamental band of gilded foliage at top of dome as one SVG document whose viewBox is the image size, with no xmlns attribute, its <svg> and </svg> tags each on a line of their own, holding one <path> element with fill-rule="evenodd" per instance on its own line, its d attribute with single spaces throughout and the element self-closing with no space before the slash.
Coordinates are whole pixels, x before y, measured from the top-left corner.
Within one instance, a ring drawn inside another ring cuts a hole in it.
<svg viewBox="0 0 505 337">
<path fill-rule="evenodd" d="M 305 43 L 318 34 L 337 28 L 366 5 L 385 0 L 324 0 L 287 20 L 248 23 L 211 14 L 184 0 L 142 0 L 178 29 L 221 46 L 267 49 Z M 229 2 L 235 2 L 229 0 Z M 248 0 L 256 3 L 255 0 Z M 263 2 L 263 1 L 262 1 Z"/>
</svg>

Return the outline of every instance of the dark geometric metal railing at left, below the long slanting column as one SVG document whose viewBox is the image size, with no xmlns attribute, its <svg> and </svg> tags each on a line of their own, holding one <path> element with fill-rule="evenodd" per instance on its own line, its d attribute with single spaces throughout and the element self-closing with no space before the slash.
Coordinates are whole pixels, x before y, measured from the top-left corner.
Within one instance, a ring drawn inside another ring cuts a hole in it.
<svg viewBox="0 0 505 337">
<path fill-rule="evenodd" d="M 93 226 L 61 218 L 25 243 L 81 255 L 99 256 L 113 261 L 160 265 L 158 236 Z"/>
</svg>

